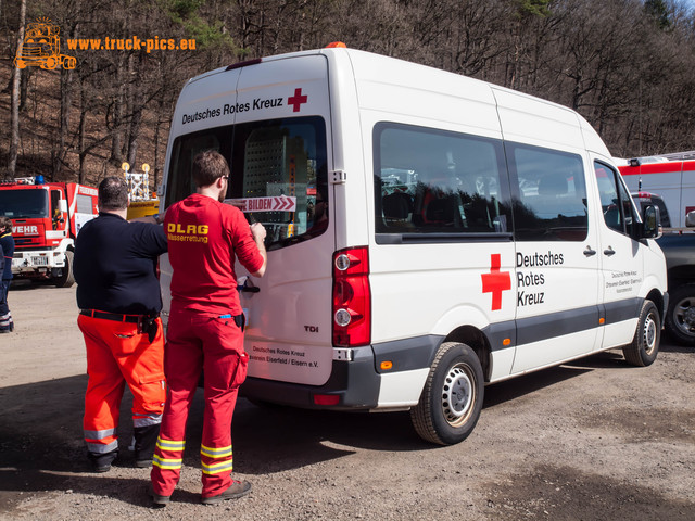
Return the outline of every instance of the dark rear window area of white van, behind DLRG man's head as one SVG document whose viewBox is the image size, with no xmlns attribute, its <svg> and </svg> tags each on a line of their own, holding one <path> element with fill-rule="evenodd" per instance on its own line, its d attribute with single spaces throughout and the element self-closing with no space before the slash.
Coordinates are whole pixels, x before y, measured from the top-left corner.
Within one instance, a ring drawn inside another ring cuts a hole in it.
<svg viewBox="0 0 695 521">
<path fill-rule="evenodd" d="M 283 247 L 328 227 L 326 126 L 318 116 L 243 123 L 180 136 L 174 142 L 166 205 L 195 187 L 193 157 L 216 150 L 229 163 L 227 201 L 267 229 L 266 247 Z"/>
</svg>

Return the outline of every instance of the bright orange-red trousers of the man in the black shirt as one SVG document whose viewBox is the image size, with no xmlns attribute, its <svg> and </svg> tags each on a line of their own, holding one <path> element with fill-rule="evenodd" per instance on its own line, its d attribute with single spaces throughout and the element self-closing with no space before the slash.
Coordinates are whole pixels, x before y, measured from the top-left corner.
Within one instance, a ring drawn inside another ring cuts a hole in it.
<svg viewBox="0 0 695 521">
<path fill-rule="evenodd" d="M 164 380 L 164 335 L 157 332 L 150 343 L 138 334 L 137 325 L 79 315 L 77 325 L 87 347 L 87 393 L 85 395 L 85 442 L 94 454 L 118 448 L 118 417 L 125 384 L 132 393 L 135 428 L 160 423 L 166 383 Z"/>
</svg>

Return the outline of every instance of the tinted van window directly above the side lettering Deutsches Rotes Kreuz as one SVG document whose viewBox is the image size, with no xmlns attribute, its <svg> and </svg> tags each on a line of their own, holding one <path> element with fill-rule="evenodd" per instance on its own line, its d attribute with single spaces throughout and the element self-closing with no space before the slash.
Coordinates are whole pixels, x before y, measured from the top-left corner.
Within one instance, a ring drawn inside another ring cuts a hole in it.
<svg viewBox="0 0 695 521">
<path fill-rule="evenodd" d="M 586 182 L 579 155 L 505 143 L 518 241 L 583 241 Z"/>
</svg>

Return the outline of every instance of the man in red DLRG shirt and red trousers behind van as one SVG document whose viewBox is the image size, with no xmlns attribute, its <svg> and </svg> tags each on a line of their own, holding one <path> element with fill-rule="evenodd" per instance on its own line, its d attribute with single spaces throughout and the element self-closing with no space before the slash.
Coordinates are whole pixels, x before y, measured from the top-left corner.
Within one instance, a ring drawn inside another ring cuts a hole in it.
<svg viewBox="0 0 695 521">
<path fill-rule="evenodd" d="M 229 166 L 215 151 L 197 155 L 197 193 L 172 205 L 164 218 L 172 276 L 172 310 L 164 372 L 169 395 L 152 467 L 152 498 L 166 505 L 178 483 L 186 420 L 201 369 L 205 411 L 200 449 L 202 501 L 214 505 L 248 494 L 251 484 L 231 479 L 231 417 L 247 377 L 243 313 L 237 292 L 235 258 L 263 277 L 265 228 L 249 227 L 241 211 L 222 203 Z"/>
</svg>

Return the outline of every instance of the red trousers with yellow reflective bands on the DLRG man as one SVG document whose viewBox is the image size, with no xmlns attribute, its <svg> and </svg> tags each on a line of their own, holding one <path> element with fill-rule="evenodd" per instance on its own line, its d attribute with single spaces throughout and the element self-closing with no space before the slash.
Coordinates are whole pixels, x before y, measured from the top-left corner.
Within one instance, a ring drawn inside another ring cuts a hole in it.
<svg viewBox="0 0 695 521">
<path fill-rule="evenodd" d="M 172 309 L 164 358 L 169 395 L 152 460 L 154 493 L 170 496 L 180 478 L 186 421 L 202 369 L 205 381 L 200 448 L 202 495 L 222 494 L 232 482 L 231 417 L 249 365 L 243 332 L 231 318 Z"/>
</svg>

